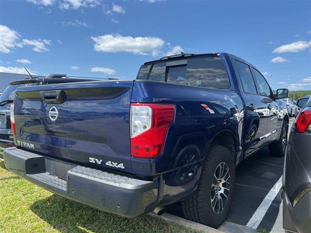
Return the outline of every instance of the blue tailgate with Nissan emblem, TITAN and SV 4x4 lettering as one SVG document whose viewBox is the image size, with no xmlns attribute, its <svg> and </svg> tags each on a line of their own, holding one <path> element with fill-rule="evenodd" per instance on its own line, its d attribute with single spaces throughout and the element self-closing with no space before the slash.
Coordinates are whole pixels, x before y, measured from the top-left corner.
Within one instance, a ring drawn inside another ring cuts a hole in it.
<svg viewBox="0 0 311 233">
<path fill-rule="evenodd" d="M 17 145 L 51 157 L 131 172 L 132 89 L 133 81 L 18 88 Z"/>
</svg>

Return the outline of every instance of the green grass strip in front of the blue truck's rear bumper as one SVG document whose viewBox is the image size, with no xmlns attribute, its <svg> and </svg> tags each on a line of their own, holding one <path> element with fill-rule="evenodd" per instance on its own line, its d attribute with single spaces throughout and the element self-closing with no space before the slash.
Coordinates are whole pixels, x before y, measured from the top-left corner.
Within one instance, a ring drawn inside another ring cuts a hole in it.
<svg viewBox="0 0 311 233">
<path fill-rule="evenodd" d="M 1 233 L 195 233 L 158 217 L 119 217 L 56 196 L 6 170 L 0 159 Z"/>
</svg>

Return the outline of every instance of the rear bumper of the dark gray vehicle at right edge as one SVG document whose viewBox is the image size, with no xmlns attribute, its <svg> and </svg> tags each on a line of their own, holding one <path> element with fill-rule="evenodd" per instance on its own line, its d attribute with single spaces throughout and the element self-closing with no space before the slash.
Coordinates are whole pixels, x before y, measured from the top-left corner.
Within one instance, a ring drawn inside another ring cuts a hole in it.
<svg viewBox="0 0 311 233">
<path fill-rule="evenodd" d="M 309 233 L 311 226 L 311 192 L 305 194 L 292 207 L 286 194 L 283 196 L 283 228 L 294 233 Z"/>
</svg>

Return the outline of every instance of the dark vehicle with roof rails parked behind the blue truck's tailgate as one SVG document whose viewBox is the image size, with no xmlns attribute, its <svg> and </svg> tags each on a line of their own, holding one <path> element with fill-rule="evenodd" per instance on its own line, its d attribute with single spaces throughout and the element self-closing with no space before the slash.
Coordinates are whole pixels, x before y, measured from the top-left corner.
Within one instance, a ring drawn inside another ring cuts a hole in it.
<svg viewBox="0 0 311 233">
<path fill-rule="evenodd" d="M 14 100 L 15 91 L 20 86 L 35 86 L 55 83 L 74 83 L 96 81 L 103 79 L 86 78 L 86 77 L 71 77 L 66 74 L 51 74 L 46 78 L 29 78 L 9 83 L 8 87 L 0 96 L 0 151 L 4 148 L 14 147 L 13 133 L 10 121 L 10 105 Z M 107 79 L 105 79 L 107 80 Z"/>
</svg>

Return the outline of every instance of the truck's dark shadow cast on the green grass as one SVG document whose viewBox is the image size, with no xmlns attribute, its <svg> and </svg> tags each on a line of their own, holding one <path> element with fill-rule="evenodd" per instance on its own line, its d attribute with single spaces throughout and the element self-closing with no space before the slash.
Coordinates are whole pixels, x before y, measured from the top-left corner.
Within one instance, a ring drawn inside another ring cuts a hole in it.
<svg viewBox="0 0 311 233">
<path fill-rule="evenodd" d="M 170 225 L 158 218 L 149 216 L 132 219 L 119 217 L 57 195 L 35 201 L 30 209 L 55 230 L 62 233 L 143 233 L 146 225 L 150 226 L 148 232 L 155 232 L 158 229 L 163 229 L 163 232 L 171 232 Z"/>
</svg>

